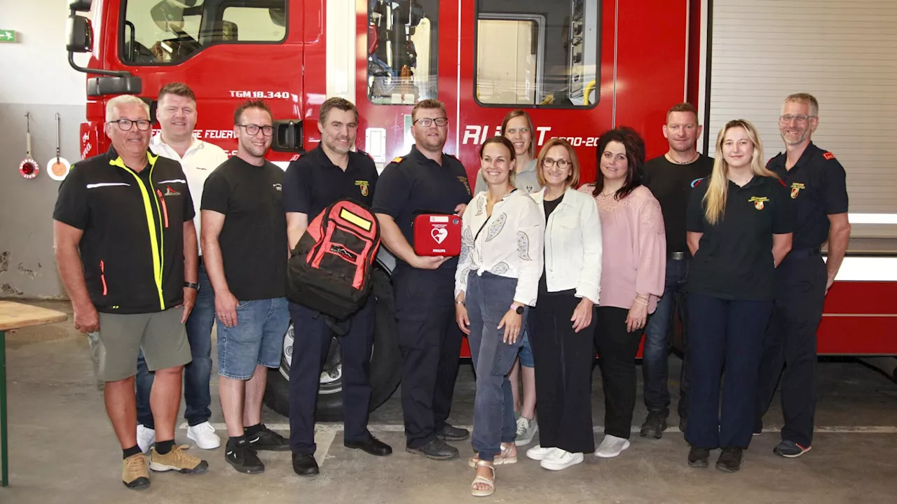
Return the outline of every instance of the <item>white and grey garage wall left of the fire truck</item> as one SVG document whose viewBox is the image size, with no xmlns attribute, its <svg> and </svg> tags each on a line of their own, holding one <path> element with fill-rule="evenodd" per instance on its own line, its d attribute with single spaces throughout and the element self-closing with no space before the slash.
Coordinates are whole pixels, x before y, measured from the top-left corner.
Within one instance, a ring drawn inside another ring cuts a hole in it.
<svg viewBox="0 0 897 504">
<path fill-rule="evenodd" d="M 0 44 L 0 297 L 65 296 L 53 258 L 53 205 L 60 182 L 49 178 L 61 117 L 62 156 L 79 159 L 78 128 L 84 120 L 84 74 L 65 53 L 63 2 L 4 2 L 0 28 L 16 30 L 17 42 Z M 81 55 L 79 55 L 81 56 Z M 78 58 L 82 60 L 83 58 Z M 31 116 L 31 157 L 38 177 L 19 174 L 25 156 L 25 113 Z"/>
</svg>

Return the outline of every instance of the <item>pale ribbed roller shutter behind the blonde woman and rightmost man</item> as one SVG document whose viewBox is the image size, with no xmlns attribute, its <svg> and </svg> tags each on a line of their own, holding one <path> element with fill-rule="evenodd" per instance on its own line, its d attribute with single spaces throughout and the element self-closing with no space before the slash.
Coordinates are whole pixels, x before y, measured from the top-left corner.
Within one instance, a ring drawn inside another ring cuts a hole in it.
<svg viewBox="0 0 897 504">
<path fill-rule="evenodd" d="M 760 130 L 767 159 L 784 151 L 781 100 L 809 92 L 819 100 L 814 143 L 847 171 L 851 236 L 897 238 L 895 24 L 893 0 L 714 0 L 710 155 L 738 117 Z"/>
</svg>

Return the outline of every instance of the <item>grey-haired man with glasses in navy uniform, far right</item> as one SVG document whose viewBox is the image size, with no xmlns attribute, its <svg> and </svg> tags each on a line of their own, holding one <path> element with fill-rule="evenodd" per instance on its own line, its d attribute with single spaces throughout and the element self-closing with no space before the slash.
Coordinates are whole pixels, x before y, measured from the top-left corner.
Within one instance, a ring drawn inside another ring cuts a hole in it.
<svg viewBox="0 0 897 504">
<path fill-rule="evenodd" d="M 788 187 L 797 225 L 791 251 L 776 270 L 775 305 L 763 341 L 753 433 L 762 432 L 763 414 L 781 377 L 785 425 L 773 453 L 795 458 L 812 447 L 816 329 L 823 317 L 825 294 L 847 251 L 850 223 L 847 174 L 832 152 L 810 140 L 819 126 L 819 102 L 810 94 L 792 94 L 781 110 L 779 132 L 785 152 L 766 166 Z M 823 261 L 821 248 L 826 242 L 827 260 Z"/>
</svg>

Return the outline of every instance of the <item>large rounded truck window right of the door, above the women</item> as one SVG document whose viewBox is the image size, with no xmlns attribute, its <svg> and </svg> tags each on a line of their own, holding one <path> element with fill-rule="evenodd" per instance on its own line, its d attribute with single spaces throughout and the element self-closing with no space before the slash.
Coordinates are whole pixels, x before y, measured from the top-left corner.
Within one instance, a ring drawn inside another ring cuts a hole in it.
<svg viewBox="0 0 897 504">
<path fill-rule="evenodd" d="M 600 0 L 477 0 L 476 100 L 591 107 L 597 102 Z"/>
</svg>

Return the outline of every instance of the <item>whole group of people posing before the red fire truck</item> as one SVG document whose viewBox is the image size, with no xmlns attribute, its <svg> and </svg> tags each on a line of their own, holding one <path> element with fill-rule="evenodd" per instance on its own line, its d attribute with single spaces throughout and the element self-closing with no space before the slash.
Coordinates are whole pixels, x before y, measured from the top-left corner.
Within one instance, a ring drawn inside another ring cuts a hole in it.
<svg viewBox="0 0 897 504">
<path fill-rule="evenodd" d="M 812 96 L 783 102 L 786 152 L 765 167 L 759 135 L 742 119 L 720 130 L 716 160 L 698 153 L 697 111 L 683 103 L 666 115 L 664 156 L 646 162 L 638 132 L 610 130 L 597 147 L 597 180 L 584 185 L 570 143 L 553 138 L 536 153 L 532 120 L 515 110 L 481 147 L 475 191 L 464 166 L 442 152 L 448 115 L 438 100 L 414 106 L 411 152 L 379 175 L 353 151 L 359 117 L 348 100 L 320 106 L 318 147 L 285 172 L 265 159 L 274 129 L 262 100 L 235 111 L 230 159 L 194 137 L 196 97 L 187 85 L 165 85 L 157 115 L 161 133 L 152 136 L 143 100 L 109 100 L 112 147 L 75 165 L 53 215 L 60 276 L 75 327 L 97 347 L 127 487 L 148 487 L 148 468 L 207 469 L 174 442 L 182 379 L 187 438 L 199 448 L 221 445 L 209 423 L 213 325 L 227 462 L 257 474 L 265 469 L 258 450 L 290 450 L 296 474 L 318 474 L 314 414 L 334 329 L 287 299 L 286 259 L 310 220 L 343 198 L 370 206 L 396 256 L 408 453 L 454 459 L 459 451 L 447 441 L 471 436 L 448 423 L 467 335 L 476 372 L 474 495 L 492 494 L 495 466 L 516 463 L 536 430 L 539 444 L 526 455 L 551 470 L 629 448 L 643 334 L 649 414 L 640 434 L 659 439 L 675 311 L 686 335 L 678 416 L 689 465 L 708 465 L 710 450 L 722 448 L 717 467 L 739 468 L 783 366 L 776 453 L 810 449 L 815 328 L 849 239 L 844 169 L 810 140 L 819 120 Z M 423 210 L 462 217 L 460 256 L 415 253 L 412 222 Z M 370 297 L 339 336 L 344 445 L 388 456 L 392 448 L 367 427 L 374 314 Z M 688 323 L 695 317 L 701 324 Z M 284 439 L 262 423 L 261 405 L 291 319 Z M 597 449 L 596 351 L 605 395 Z"/>
</svg>

